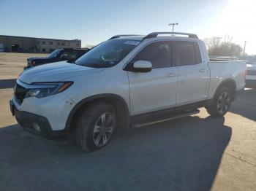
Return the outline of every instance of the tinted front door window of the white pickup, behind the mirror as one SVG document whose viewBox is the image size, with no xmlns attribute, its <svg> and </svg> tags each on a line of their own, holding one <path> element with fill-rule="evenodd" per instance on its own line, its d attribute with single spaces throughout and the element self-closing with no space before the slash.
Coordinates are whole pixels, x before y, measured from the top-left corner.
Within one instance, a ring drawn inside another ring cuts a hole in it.
<svg viewBox="0 0 256 191">
<path fill-rule="evenodd" d="M 141 50 L 132 63 L 135 61 L 150 61 L 152 69 L 161 69 L 171 66 L 170 42 L 153 42 Z"/>
</svg>

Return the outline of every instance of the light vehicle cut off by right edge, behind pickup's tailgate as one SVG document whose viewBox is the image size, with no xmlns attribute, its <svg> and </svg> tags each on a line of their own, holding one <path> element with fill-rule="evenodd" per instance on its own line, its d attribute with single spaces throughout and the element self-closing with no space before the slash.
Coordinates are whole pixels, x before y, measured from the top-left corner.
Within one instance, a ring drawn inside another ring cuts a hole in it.
<svg viewBox="0 0 256 191">
<path fill-rule="evenodd" d="M 247 62 L 246 87 L 256 87 L 256 56 Z"/>
</svg>

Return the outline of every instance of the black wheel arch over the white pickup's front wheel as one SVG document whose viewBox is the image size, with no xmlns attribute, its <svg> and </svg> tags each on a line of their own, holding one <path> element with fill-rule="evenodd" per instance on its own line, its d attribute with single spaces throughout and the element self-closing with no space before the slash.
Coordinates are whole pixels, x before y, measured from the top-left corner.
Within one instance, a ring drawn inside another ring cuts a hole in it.
<svg viewBox="0 0 256 191">
<path fill-rule="evenodd" d="M 75 130 L 76 120 L 81 110 L 85 109 L 87 106 L 91 104 L 94 104 L 95 101 L 104 101 L 105 103 L 111 104 L 114 107 L 117 114 L 116 119 L 118 127 L 129 127 L 130 114 L 127 102 L 124 101 L 124 98 L 122 98 L 120 95 L 104 93 L 84 98 L 74 106 L 74 108 L 69 113 L 69 117 L 67 118 L 67 122 L 65 125 L 66 132 L 71 132 L 72 130 Z"/>
</svg>

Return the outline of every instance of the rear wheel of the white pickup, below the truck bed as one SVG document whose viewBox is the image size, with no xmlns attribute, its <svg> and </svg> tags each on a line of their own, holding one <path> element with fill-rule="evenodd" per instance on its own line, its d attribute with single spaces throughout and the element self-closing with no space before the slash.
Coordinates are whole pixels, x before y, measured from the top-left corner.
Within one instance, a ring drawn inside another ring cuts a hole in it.
<svg viewBox="0 0 256 191">
<path fill-rule="evenodd" d="M 222 117 L 228 112 L 228 109 L 230 109 L 231 101 L 230 88 L 221 87 L 216 95 L 214 95 L 214 100 L 212 101 L 211 106 L 206 107 L 206 110 L 211 116 Z"/>
</svg>

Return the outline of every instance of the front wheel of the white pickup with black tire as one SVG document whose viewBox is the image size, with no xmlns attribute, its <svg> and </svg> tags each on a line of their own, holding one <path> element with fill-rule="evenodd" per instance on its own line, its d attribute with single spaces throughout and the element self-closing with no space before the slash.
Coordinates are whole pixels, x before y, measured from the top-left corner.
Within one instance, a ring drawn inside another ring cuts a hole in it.
<svg viewBox="0 0 256 191">
<path fill-rule="evenodd" d="M 105 123 L 107 123 L 110 115 L 112 115 L 113 121 L 110 124 L 113 126 L 112 133 L 108 131 L 110 125 L 107 127 L 107 125 L 103 125 L 102 123 L 102 120 L 104 119 L 104 114 Z M 99 123 L 101 123 L 102 125 L 99 125 Z M 116 114 L 113 106 L 111 106 L 110 104 L 105 104 L 104 102 L 92 104 L 91 106 L 84 109 L 78 117 L 77 126 L 75 129 L 75 140 L 81 149 L 86 152 L 91 152 L 105 147 L 105 145 L 110 142 L 111 136 L 113 135 L 113 130 L 115 128 Z M 94 130 L 96 133 L 94 133 Z M 103 135 L 104 133 L 105 135 Z M 99 136 L 101 136 L 101 138 L 99 138 Z M 99 139 L 95 140 L 96 138 Z M 106 142 L 107 138 L 109 139 Z"/>
</svg>

